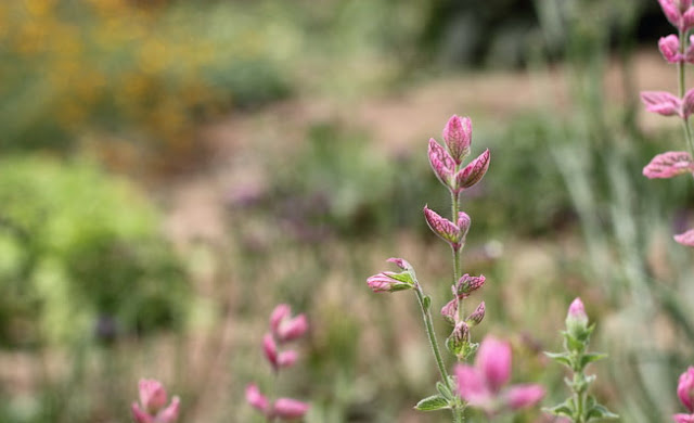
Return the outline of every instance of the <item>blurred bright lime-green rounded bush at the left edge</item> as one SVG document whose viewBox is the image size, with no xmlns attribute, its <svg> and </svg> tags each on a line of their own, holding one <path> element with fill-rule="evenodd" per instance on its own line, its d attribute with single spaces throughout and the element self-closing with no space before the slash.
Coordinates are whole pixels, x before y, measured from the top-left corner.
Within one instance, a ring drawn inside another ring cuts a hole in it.
<svg viewBox="0 0 694 423">
<path fill-rule="evenodd" d="M 0 162 L 0 339 L 37 346 L 180 328 L 189 287 L 158 216 L 79 162 Z"/>
</svg>

